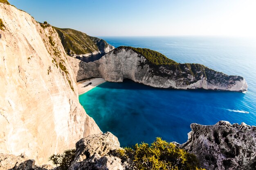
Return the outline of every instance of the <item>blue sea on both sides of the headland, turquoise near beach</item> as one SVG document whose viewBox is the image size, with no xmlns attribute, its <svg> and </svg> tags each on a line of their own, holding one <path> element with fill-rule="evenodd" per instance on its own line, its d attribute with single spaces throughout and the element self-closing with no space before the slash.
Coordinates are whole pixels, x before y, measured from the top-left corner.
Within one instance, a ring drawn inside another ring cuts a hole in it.
<svg viewBox="0 0 256 170">
<path fill-rule="evenodd" d="M 219 120 L 256 125 L 256 40 L 211 37 L 101 37 L 109 44 L 158 51 L 180 63 L 200 63 L 229 75 L 241 75 L 248 92 L 157 89 L 131 80 L 106 82 L 80 95 L 80 103 L 103 132 L 121 146 L 155 137 L 184 143 L 190 124 Z"/>
</svg>

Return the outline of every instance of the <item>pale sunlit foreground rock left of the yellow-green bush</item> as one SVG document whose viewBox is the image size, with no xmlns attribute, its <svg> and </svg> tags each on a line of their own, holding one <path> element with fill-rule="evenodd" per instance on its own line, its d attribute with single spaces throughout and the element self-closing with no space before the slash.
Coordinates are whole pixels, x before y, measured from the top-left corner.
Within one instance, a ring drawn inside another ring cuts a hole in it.
<svg viewBox="0 0 256 170">
<path fill-rule="evenodd" d="M 120 144 L 112 133 L 90 135 L 76 143 L 76 158 L 68 170 L 124 170 L 125 164 L 112 155 L 117 149 Z"/>
</svg>

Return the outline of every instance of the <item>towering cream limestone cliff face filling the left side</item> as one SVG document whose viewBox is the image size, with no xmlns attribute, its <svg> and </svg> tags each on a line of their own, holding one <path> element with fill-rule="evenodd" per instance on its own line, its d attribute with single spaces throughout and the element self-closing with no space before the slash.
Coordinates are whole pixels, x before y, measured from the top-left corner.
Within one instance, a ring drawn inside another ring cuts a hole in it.
<svg viewBox="0 0 256 170">
<path fill-rule="evenodd" d="M 0 153 L 39 165 L 101 130 L 78 100 L 76 80 L 55 29 L 0 3 Z"/>
</svg>

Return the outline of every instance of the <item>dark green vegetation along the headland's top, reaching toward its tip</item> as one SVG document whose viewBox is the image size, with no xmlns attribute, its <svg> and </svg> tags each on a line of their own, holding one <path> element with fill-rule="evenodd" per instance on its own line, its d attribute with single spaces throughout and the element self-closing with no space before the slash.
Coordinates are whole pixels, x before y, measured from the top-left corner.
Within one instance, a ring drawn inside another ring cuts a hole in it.
<svg viewBox="0 0 256 170">
<path fill-rule="evenodd" d="M 116 53 L 120 49 L 132 50 L 135 53 L 145 57 L 146 60 L 149 62 L 148 64 L 151 64 L 151 68 L 153 68 L 154 75 L 160 75 L 160 76 L 170 77 L 170 78 L 173 78 L 173 76 L 188 77 L 188 75 L 192 75 L 193 77 L 195 77 L 193 82 L 187 81 L 186 82 L 187 85 L 197 82 L 199 79 L 202 79 L 202 75 L 207 79 L 215 81 L 216 83 L 223 82 L 224 80 L 230 79 L 230 76 L 224 73 L 214 71 L 202 64 L 194 64 L 194 63 L 180 64 L 167 58 L 165 55 L 150 49 L 134 48 L 131 46 L 119 46 L 117 49 L 114 50 L 114 53 Z M 139 66 L 143 68 L 145 64 L 146 63 L 141 63 Z M 165 67 L 161 68 L 161 66 L 165 66 Z M 168 70 L 169 72 L 166 72 L 164 70 Z M 219 74 L 219 77 L 216 77 L 217 73 Z M 240 77 L 240 76 L 236 76 L 236 77 L 233 76 L 233 78 L 234 80 L 243 79 L 243 77 Z"/>
</svg>

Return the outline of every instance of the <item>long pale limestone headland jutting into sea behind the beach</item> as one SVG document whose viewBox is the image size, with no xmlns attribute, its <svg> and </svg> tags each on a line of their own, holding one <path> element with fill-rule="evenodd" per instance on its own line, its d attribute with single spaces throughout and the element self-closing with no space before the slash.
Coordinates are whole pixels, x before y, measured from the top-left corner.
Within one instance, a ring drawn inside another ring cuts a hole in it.
<svg viewBox="0 0 256 170">
<path fill-rule="evenodd" d="M 147 52 L 157 53 L 149 49 Z M 161 60 L 170 60 L 160 55 Z M 174 61 L 173 64 L 154 64 L 132 47 L 119 47 L 94 62 L 85 63 L 70 57 L 69 60 L 76 81 L 103 77 L 109 82 L 131 79 L 157 88 L 247 91 L 243 77 L 229 76 L 201 64 L 179 64 Z"/>
</svg>

